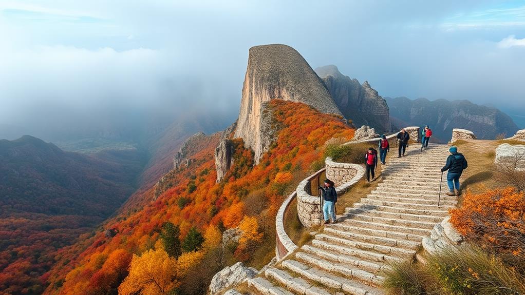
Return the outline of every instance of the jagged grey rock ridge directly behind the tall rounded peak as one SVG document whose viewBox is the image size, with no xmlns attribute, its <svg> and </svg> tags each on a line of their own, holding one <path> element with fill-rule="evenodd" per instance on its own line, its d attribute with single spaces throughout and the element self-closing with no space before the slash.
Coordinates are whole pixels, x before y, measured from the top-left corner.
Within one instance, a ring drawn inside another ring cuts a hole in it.
<svg viewBox="0 0 525 295">
<path fill-rule="evenodd" d="M 381 133 L 390 132 L 390 112 L 386 101 L 365 81 L 362 85 L 356 79 L 339 72 L 335 65 L 316 69 L 328 92 L 341 113 L 352 119 L 353 125 L 369 125 Z"/>
</svg>

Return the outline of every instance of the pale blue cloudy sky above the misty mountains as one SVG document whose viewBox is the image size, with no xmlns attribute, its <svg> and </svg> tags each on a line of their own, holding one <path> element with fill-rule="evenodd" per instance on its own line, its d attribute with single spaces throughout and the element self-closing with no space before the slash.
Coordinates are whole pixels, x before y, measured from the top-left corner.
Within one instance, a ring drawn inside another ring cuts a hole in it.
<svg viewBox="0 0 525 295">
<path fill-rule="evenodd" d="M 525 110 L 525 1 L 0 0 L 0 38 L 0 123 L 54 105 L 234 117 L 248 48 L 265 43 L 383 96 Z"/>
</svg>

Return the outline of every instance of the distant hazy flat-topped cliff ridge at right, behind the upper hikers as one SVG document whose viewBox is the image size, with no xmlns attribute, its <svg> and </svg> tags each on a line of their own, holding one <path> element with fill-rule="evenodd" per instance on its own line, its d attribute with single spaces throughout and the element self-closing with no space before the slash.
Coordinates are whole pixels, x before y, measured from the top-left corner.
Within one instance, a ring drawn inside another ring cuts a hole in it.
<svg viewBox="0 0 525 295">
<path fill-rule="evenodd" d="M 497 108 L 477 105 L 467 100 L 410 100 L 385 97 L 391 121 L 396 125 L 430 125 L 435 139 L 446 142 L 454 128 L 471 130 L 479 139 L 510 136 L 518 130 L 512 119 Z"/>
</svg>

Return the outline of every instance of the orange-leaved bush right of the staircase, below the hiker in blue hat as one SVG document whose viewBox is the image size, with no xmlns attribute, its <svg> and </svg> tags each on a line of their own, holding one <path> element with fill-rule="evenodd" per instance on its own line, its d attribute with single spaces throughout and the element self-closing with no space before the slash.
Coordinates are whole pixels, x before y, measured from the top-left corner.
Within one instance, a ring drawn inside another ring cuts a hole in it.
<svg viewBox="0 0 525 295">
<path fill-rule="evenodd" d="M 450 223 L 459 233 L 484 246 L 522 255 L 525 251 L 525 194 L 515 188 L 465 195 Z"/>
</svg>

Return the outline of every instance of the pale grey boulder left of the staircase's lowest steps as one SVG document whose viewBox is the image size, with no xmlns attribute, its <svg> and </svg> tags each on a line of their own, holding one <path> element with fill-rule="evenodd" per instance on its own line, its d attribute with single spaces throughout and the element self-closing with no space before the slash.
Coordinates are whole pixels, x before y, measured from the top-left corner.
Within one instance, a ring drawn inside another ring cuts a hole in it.
<svg viewBox="0 0 525 295">
<path fill-rule="evenodd" d="M 245 267 L 240 261 L 232 266 L 227 266 L 217 272 L 209 285 L 209 294 L 216 295 L 220 292 L 237 285 L 247 278 L 253 278 L 258 274 L 253 267 Z"/>
</svg>

